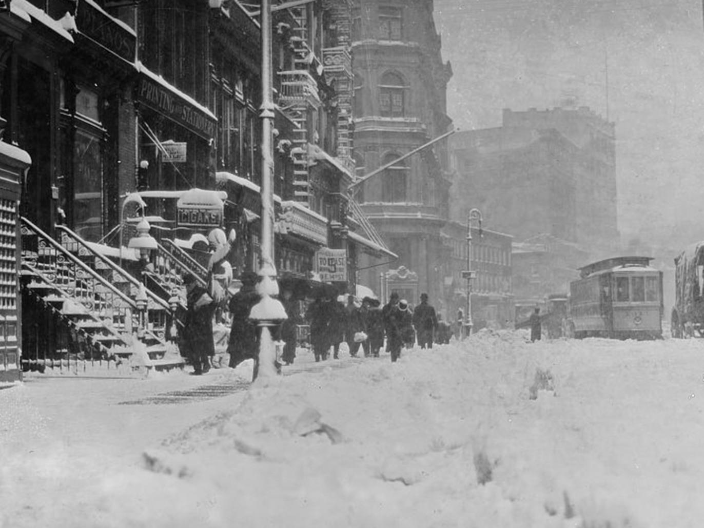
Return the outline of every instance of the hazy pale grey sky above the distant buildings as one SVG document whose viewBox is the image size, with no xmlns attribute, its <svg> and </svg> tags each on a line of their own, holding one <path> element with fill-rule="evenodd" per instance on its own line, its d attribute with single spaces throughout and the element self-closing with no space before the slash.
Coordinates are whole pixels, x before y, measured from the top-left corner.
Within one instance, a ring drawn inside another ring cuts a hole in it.
<svg viewBox="0 0 704 528">
<path fill-rule="evenodd" d="M 502 108 L 589 106 L 616 123 L 623 238 L 704 239 L 701 0 L 435 0 L 463 130 Z M 607 82 L 608 81 L 608 82 Z M 608 87 L 608 89 L 607 89 Z M 608 94 L 608 97 L 607 97 Z"/>
</svg>

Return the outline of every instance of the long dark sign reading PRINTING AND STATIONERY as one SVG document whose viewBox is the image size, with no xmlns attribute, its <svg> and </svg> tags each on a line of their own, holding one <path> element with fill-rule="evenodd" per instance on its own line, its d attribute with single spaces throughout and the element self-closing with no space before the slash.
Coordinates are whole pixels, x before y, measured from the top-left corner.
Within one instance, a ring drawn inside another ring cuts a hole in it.
<svg viewBox="0 0 704 528">
<path fill-rule="evenodd" d="M 203 139 L 215 137 L 217 122 L 212 116 L 144 73 L 139 77 L 137 99 Z"/>
</svg>

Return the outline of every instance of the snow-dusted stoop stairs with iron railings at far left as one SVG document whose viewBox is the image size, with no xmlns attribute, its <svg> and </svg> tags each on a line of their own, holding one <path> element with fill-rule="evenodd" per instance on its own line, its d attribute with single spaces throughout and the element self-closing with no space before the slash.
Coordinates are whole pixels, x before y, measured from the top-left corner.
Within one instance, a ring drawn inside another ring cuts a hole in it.
<svg viewBox="0 0 704 528">
<path fill-rule="evenodd" d="M 97 374 L 184 365 L 159 323 L 167 320 L 168 302 L 134 284 L 137 279 L 108 258 L 89 251 L 70 230 L 58 232 L 73 251 L 30 220 L 21 221 L 23 311 L 30 310 L 35 325 L 32 339 L 24 343 L 23 367 Z M 31 334 L 31 328 L 27 331 Z"/>
</svg>

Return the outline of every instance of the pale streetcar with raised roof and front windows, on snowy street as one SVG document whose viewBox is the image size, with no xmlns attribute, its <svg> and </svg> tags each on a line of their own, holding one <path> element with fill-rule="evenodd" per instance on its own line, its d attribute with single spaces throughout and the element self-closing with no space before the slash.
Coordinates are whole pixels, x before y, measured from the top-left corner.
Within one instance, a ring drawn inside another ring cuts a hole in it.
<svg viewBox="0 0 704 528">
<path fill-rule="evenodd" d="M 612 257 L 579 268 L 570 282 L 574 337 L 662 339 L 662 272 L 651 257 Z"/>
</svg>

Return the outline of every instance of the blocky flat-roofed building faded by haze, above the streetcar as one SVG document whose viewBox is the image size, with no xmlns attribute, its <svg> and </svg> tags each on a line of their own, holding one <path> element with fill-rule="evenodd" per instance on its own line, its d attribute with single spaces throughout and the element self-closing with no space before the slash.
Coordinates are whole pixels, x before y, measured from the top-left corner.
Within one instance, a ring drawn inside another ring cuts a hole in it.
<svg viewBox="0 0 704 528">
<path fill-rule="evenodd" d="M 506 109 L 501 127 L 455 134 L 451 149 L 453 219 L 479 207 L 517 241 L 550 234 L 595 258 L 617 250 L 614 123 L 584 106 Z"/>
</svg>

